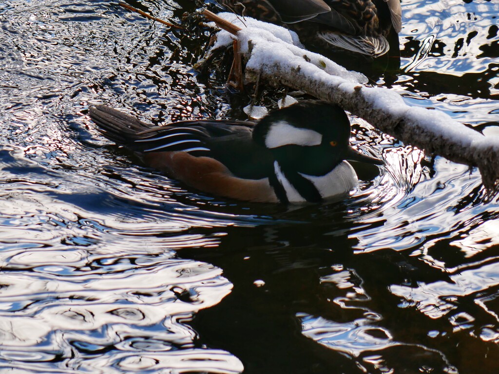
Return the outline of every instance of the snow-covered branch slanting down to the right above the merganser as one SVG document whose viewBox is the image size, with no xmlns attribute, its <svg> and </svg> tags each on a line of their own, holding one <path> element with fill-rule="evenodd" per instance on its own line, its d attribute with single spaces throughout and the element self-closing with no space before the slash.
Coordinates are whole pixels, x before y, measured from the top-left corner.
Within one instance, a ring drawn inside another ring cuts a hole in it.
<svg viewBox="0 0 499 374">
<path fill-rule="evenodd" d="M 215 14 L 207 12 L 204 14 L 210 20 L 216 19 Z M 250 17 L 241 19 L 232 13 L 218 16 L 236 28 L 229 26 L 229 32 L 218 32 L 211 50 L 239 40 L 248 81 L 260 76 L 271 85 L 285 85 L 337 104 L 406 144 L 478 167 L 484 186 L 498 192 L 499 137 L 486 137 L 438 110 L 411 107 L 387 88 L 366 86 L 363 74 L 303 49 L 297 35 L 283 27 Z"/>
</svg>

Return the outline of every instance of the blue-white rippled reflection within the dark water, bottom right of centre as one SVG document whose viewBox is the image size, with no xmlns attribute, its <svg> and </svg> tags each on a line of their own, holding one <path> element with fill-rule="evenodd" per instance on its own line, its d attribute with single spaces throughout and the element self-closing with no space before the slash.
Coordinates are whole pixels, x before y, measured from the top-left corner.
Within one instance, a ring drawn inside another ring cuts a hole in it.
<svg viewBox="0 0 499 374">
<path fill-rule="evenodd" d="M 333 265 L 331 270 L 330 275 L 321 278 L 322 284 L 334 284 L 341 295 L 331 300 L 331 303 L 343 310 L 348 309 L 350 316 L 360 314 L 361 317 L 333 321 L 307 313 L 297 313 L 296 317 L 301 322 L 304 336 L 331 350 L 351 356 L 366 373 L 371 373 L 372 369 L 381 370 L 382 373 L 394 372 L 396 365 L 393 365 L 394 358 L 390 349 L 401 347 L 413 350 L 417 355 L 433 357 L 432 360 L 439 362 L 438 366 L 441 366 L 445 373 L 457 373 L 456 368 L 449 364 L 442 352 L 422 344 L 394 339 L 390 329 L 382 326 L 383 316 L 369 309 L 371 297 L 354 270 L 344 269 L 341 265 Z M 400 358 L 395 360 L 400 361 Z M 422 369 L 421 367 L 420 370 Z"/>
</svg>

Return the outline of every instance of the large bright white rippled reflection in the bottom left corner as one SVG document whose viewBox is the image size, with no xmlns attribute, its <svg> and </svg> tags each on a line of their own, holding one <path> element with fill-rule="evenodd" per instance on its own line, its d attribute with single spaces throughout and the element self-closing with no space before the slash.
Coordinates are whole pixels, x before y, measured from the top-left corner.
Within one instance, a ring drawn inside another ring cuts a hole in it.
<svg viewBox="0 0 499 374">
<path fill-rule="evenodd" d="M 38 346 L 56 354 L 71 346 L 98 351 L 99 345 L 102 349 L 117 344 L 130 353 L 94 359 L 93 364 L 90 360 L 84 367 L 103 370 L 103 365 L 119 363 L 126 371 L 141 362 L 147 370 L 167 363 L 174 370 L 183 363 L 184 371 L 241 371 L 239 360 L 226 352 L 193 350 L 196 333 L 186 325 L 193 313 L 218 304 L 230 293 L 232 284 L 221 276 L 221 269 L 174 258 L 128 265 L 123 260 L 115 258 L 104 272 L 82 268 L 79 275 L 61 274 L 63 268 L 55 265 L 1 274 L 2 357 L 17 357 L 20 367 L 26 367 L 30 359 L 16 354 L 21 347 Z M 126 345 L 130 339 L 133 342 Z M 144 350 L 144 344 L 149 348 Z M 154 352 L 158 349 L 175 352 Z M 104 372 L 113 373 L 110 367 Z"/>
</svg>

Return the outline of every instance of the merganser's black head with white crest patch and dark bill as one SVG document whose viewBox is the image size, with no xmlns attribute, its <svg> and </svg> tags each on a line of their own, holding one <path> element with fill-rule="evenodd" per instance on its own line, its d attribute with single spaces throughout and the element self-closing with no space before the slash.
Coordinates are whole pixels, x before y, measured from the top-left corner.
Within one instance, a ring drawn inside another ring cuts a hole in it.
<svg viewBox="0 0 499 374">
<path fill-rule="evenodd" d="M 382 165 L 354 151 L 349 144 L 350 122 L 340 107 L 303 101 L 260 120 L 253 140 L 268 148 L 283 169 L 322 176 L 343 160 Z"/>
</svg>

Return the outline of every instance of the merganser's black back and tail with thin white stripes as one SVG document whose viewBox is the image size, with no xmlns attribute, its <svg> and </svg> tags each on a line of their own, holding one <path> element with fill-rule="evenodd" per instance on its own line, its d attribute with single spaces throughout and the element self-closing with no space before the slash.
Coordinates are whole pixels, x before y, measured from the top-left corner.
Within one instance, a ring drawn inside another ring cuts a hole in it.
<svg viewBox="0 0 499 374">
<path fill-rule="evenodd" d="M 248 179 L 265 178 L 273 171 L 272 154 L 251 138 L 254 122 L 193 120 L 153 126 L 105 105 L 91 107 L 89 115 L 103 136 L 134 152 L 212 157 Z"/>
</svg>

